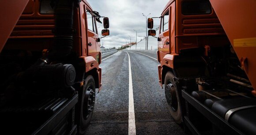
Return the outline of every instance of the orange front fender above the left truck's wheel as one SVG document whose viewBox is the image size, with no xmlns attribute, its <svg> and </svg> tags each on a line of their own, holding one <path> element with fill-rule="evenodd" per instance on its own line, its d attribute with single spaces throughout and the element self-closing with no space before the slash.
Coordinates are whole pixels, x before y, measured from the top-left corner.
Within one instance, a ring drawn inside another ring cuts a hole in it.
<svg viewBox="0 0 256 135">
<path fill-rule="evenodd" d="M 98 62 L 94 59 L 93 56 L 82 56 L 85 62 L 85 74 L 92 75 L 94 77 L 96 88 L 101 90 L 101 76 L 102 76 L 102 68 L 99 67 Z"/>
</svg>

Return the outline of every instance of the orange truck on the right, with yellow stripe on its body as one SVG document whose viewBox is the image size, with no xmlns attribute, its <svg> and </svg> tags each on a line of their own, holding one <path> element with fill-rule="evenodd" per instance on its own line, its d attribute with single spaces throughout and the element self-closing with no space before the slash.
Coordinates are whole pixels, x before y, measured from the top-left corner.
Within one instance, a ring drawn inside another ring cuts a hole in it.
<svg viewBox="0 0 256 135">
<path fill-rule="evenodd" d="M 169 0 L 164 8 L 155 37 L 159 83 L 185 131 L 256 135 L 255 7 L 255 0 Z"/>
</svg>

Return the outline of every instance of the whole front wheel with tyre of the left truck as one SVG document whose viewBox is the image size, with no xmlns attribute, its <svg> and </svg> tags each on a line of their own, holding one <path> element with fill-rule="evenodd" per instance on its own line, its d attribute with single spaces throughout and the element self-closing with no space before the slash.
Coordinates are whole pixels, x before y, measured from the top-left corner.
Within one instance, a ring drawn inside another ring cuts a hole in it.
<svg viewBox="0 0 256 135">
<path fill-rule="evenodd" d="M 81 120 L 79 126 L 79 133 L 84 134 L 86 127 L 88 127 L 90 123 L 95 102 L 95 82 L 94 78 L 91 75 L 87 76 L 84 81 L 83 94 L 81 99 Z"/>
</svg>

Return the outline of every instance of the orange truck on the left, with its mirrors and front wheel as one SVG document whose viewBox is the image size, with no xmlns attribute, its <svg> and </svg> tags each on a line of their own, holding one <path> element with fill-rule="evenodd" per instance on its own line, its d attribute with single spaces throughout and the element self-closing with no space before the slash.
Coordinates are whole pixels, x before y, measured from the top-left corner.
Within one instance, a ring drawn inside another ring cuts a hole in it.
<svg viewBox="0 0 256 135">
<path fill-rule="evenodd" d="M 1 133 L 85 133 L 102 86 L 100 18 L 87 0 L 0 1 Z"/>
</svg>

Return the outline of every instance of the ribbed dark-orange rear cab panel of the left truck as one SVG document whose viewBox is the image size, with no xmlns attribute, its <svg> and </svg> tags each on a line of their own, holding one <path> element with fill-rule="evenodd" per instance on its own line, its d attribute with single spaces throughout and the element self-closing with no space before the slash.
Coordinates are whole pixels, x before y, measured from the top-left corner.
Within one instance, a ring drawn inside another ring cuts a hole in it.
<svg viewBox="0 0 256 135">
<path fill-rule="evenodd" d="M 9 38 L 53 38 L 54 25 L 53 14 L 41 14 L 40 1 L 29 0 Z"/>
</svg>

